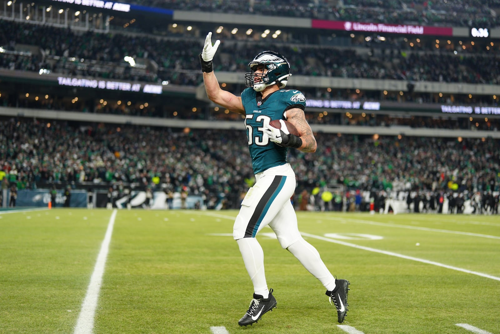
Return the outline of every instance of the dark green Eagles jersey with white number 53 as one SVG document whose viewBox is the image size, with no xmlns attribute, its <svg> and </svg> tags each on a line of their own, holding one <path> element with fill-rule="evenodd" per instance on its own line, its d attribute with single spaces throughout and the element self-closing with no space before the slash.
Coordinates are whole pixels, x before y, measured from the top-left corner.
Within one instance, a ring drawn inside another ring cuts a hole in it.
<svg viewBox="0 0 500 334">
<path fill-rule="evenodd" d="M 246 88 L 241 93 L 241 102 L 245 109 L 246 138 L 253 167 L 253 172 L 284 165 L 287 147 L 271 142 L 262 130 L 272 120 L 284 120 L 284 112 L 291 108 L 305 108 L 305 97 L 297 90 L 281 89 L 269 94 L 262 100 L 259 92 Z"/>
</svg>

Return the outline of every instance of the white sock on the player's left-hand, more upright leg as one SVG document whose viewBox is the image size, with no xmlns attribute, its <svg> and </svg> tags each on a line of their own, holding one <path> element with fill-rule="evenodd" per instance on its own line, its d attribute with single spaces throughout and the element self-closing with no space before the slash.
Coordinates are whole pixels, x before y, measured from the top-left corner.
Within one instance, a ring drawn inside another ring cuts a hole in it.
<svg viewBox="0 0 500 334">
<path fill-rule="evenodd" d="M 264 252 L 255 238 L 241 238 L 236 240 L 246 271 L 250 275 L 253 283 L 253 291 L 260 294 L 263 298 L 269 297 L 267 283 L 264 273 Z"/>
</svg>

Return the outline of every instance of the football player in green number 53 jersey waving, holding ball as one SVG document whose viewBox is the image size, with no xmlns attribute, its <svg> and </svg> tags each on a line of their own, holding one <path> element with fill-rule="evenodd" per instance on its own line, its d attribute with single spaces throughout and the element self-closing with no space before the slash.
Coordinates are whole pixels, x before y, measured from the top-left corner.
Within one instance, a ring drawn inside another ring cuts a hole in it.
<svg viewBox="0 0 500 334">
<path fill-rule="evenodd" d="M 211 43 L 211 33 L 205 39 L 199 55 L 203 82 L 208 98 L 214 103 L 245 115 L 246 137 L 256 182 L 248 189 L 234 221 L 233 237 L 253 283 L 253 298 L 238 324 L 257 322 L 267 311 L 276 307 L 272 289 L 267 289 L 264 274 L 264 255 L 255 235 L 269 225 L 283 249 L 292 253 L 300 263 L 326 288 L 330 303 L 335 305 L 337 321 L 347 312 L 349 282 L 336 279 L 328 271 L 317 250 L 305 241 L 297 227 L 297 217 L 290 202 L 295 191 L 295 174 L 287 161 L 288 148 L 315 152 L 316 140 L 304 116 L 305 97 L 298 90 L 285 89 L 290 64 L 274 51 L 259 53 L 248 64 L 246 89 L 241 96 L 219 87 L 213 73 L 213 56 L 220 44 Z M 281 128 L 269 126 L 281 120 Z M 299 136 L 289 133 L 284 120 L 293 124 Z"/>
</svg>

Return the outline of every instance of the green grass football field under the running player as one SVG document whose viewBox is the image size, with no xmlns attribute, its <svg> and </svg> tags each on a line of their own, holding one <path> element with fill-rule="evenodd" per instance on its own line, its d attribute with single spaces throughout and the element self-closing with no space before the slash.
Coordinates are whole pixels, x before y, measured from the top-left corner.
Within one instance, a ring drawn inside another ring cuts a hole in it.
<svg viewBox="0 0 500 334">
<path fill-rule="evenodd" d="M 1 334 L 75 332 L 111 214 L 0 211 Z M 500 333 L 498 216 L 297 212 L 304 238 L 351 282 L 342 328 L 323 286 L 270 228 L 257 239 L 277 308 L 237 325 L 253 289 L 230 236 L 236 214 L 118 211 L 92 332 L 473 332 L 456 325 L 466 323 Z"/>
</svg>

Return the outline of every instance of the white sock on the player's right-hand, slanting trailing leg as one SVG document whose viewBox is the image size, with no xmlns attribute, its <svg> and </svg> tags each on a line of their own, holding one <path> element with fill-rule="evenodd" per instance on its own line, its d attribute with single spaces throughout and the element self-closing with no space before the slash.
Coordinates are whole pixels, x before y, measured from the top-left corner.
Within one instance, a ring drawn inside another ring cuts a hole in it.
<svg viewBox="0 0 500 334">
<path fill-rule="evenodd" d="M 307 271 L 323 284 L 326 290 L 333 291 L 335 288 L 335 278 L 324 265 L 316 248 L 303 238 L 300 238 L 286 249 L 300 261 Z"/>
</svg>

